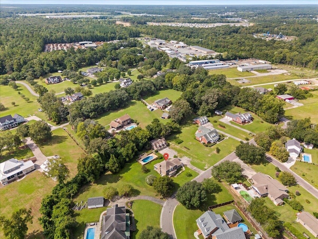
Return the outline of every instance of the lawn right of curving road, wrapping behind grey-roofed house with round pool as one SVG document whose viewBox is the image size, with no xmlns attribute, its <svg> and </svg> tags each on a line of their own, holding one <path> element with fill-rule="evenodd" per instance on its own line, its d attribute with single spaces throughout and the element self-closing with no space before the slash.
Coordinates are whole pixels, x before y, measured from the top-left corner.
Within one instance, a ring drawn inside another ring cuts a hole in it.
<svg viewBox="0 0 318 239">
<path fill-rule="evenodd" d="M 194 238 L 193 233 L 198 230 L 195 220 L 207 211 L 209 206 L 233 200 L 227 189 L 222 184 L 220 186 L 222 191 L 218 194 L 208 195 L 208 201 L 200 209 L 188 210 L 181 204 L 176 207 L 173 225 L 178 239 Z"/>
</svg>

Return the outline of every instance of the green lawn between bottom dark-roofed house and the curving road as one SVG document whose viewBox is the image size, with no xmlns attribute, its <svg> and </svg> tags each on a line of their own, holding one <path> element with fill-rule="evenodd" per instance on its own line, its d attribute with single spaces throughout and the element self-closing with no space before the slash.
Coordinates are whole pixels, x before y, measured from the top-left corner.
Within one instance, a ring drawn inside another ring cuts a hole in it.
<svg viewBox="0 0 318 239">
<path fill-rule="evenodd" d="M 160 228 L 161 205 L 146 200 L 135 200 L 132 211 L 135 216 L 137 230 L 133 233 L 133 239 L 138 239 L 141 232 L 147 226 Z"/>
</svg>

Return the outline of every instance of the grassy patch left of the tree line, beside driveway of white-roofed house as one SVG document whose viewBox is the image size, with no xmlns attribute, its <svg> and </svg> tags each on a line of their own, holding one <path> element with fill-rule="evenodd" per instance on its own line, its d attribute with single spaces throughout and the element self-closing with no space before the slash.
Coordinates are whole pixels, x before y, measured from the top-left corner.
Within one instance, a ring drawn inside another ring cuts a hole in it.
<svg viewBox="0 0 318 239">
<path fill-rule="evenodd" d="M 46 156 L 59 155 L 63 158 L 70 170 L 71 177 L 74 177 L 77 174 L 78 159 L 84 154 L 84 151 L 62 128 L 52 132 L 52 139 L 45 144 L 40 145 L 40 149 Z"/>
</svg>

